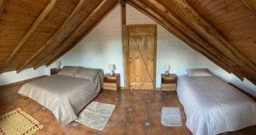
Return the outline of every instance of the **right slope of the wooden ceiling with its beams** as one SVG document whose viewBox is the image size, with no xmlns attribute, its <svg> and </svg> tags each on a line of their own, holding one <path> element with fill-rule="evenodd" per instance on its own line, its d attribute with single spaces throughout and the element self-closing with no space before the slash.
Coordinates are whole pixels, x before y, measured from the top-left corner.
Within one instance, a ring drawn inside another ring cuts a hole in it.
<svg viewBox="0 0 256 135">
<path fill-rule="evenodd" d="M 127 3 L 228 73 L 256 84 L 253 14 L 256 1 L 129 0 Z"/>
</svg>

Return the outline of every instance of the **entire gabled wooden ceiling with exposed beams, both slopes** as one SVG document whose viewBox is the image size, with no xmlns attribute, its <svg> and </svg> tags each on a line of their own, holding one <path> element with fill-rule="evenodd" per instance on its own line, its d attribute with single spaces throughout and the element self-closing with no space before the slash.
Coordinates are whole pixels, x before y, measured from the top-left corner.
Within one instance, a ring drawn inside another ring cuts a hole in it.
<svg viewBox="0 0 256 135">
<path fill-rule="evenodd" d="M 124 0 L 119 1 L 122 5 Z M 256 84 L 256 1 L 127 0 L 228 73 Z M 0 72 L 50 65 L 117 0 L 0 0 Z"/>
</svg>

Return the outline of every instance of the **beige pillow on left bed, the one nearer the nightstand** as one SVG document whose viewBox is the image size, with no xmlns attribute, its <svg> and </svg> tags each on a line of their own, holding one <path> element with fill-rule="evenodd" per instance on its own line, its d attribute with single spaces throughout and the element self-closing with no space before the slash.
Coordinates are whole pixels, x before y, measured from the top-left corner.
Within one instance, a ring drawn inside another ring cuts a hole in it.
<svg viewBox="0 0 256 135">
<path fill-rule="evenodd" d="M 77 72 L 74 74 L 74 77 L 79 79 L 86 79 L 93 82 L 99 71 L 100 69 L 89 69 L 79 66 Z"/>
</svg>

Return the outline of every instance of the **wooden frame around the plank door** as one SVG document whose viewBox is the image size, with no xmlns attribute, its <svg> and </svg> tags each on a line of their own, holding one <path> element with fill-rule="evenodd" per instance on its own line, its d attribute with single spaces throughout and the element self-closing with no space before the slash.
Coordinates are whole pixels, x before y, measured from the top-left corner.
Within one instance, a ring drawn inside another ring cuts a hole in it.
<svg viewBox="0 0 256 135">
<path fill-rule="evenodd" d="M 156 90 L 156 64 L 157 64 L 157 24 L 140 24 L 140 25 L 127 25 L 125 33 L 125 52 L 123 52 L 124 61 L 124 86 L 125 89 L 130 89 L 130 64 L 129 64 L 129 28 L 130 27 L 155 27 L 155 56 L 154 56 L 154 79 L 153 88 Z"/>
</svg>

